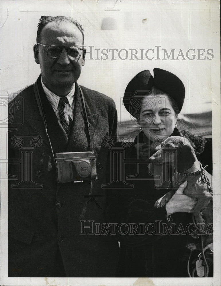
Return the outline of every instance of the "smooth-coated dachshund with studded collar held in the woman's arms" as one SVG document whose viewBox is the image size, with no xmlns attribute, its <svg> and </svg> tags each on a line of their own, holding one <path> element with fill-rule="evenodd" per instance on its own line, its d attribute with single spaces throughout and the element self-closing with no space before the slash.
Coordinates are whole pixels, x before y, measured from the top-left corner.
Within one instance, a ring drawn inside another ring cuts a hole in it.
<svg viewBox="0 0 221 286">
<path fill-rule="evenodd" d="M 196 223 L 202 224 L 204 228 L 205 221 L 202 218 L 202 211 L 212 200 L 212 192 L 210 192 L 210 188 L 212 190 L 212 186 L 210 185 L 212 176 L 202 168 L 201 163 L 197 160 L 193 147 L 186 138 L 171 136 L 158 146 L 156 150 L 157 152 L 150 157 L 150 159 L 153 160 L 151 164 L 162 165 L 163 162 L 174 167 L 174 175 L 171 182 L 174 190 L 171 190 L 157 200 L 155 206 L 158 208 L 164 206 L 171 199 L 180 184 L 186 180 L 188 184 L 183 193 L 191 198 L 197 199 L 193 213 Z M 173 155 L 166 156 L 166 153 Z M 152 168 L 152 170 L 154 170 L 154 168 Z M 209 182 L 209 185 L 207 182 Z M 207 212 L 205 212 L 204 217 L 206 213 Z"/>
</svg>

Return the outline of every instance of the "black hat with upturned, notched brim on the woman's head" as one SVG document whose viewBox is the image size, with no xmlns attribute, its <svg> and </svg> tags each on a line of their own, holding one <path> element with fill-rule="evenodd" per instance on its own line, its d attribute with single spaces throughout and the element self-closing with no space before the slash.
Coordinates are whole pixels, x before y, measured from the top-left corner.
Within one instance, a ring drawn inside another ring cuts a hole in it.
<svg viewBox="0 0 221 286">
<path fill-rule="evenodd" d="M 123 103 L 126 110 L 135 118 L 139 118 L 138 110 L 142 99 L 144 95 L 151 95 L 153 86 L 173 98 L 178 105 L 179 112 L 182 109 L 185 97 L 185 87 L 182 81 L 164 69 L 155 68 L 153 73 L 154 77 L 148 69 L 140 72 L 132 78 L 126 87 Z"/>
</svg>

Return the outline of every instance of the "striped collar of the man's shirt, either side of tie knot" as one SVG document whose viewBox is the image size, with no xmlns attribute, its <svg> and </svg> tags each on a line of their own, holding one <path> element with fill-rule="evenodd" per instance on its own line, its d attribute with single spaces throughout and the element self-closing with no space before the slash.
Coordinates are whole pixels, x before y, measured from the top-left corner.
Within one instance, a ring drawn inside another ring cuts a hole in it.
<svg viewBox="0 0 221 286">
<path fill-rule="evenodd" d="M 52 91 L 50 91 L 42 82 L 42 78 L 41 78 L 41 83 L 42 83 L 42 88 L 46 94 L 47 99 L 49 100 L 54 112 L 56 112 L 56 110 L 58 109 L 60 96 L 58 96 L 58 95 L 54 94 Z M 69 92 L 69 94 L 66 95 L 71 108 L 74 107 L 74 98 L 75 98 L 74 94 L 75 94 L 75 83 L 73 85 L 72 90 Z"/>
</svg>

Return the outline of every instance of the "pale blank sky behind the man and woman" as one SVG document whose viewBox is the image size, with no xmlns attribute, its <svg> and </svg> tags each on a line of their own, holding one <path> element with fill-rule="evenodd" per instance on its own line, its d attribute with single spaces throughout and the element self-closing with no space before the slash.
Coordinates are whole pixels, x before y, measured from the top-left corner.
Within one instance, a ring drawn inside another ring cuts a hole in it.
<svg viewBox="0 0 221 286">
<path fill-rule="evenodd" d="M 94 46 L 94 59 L 86 55 L 78 83 L 113 98 L 119 121 L 130 118 L 121 100 L 128 82 L 138 72 L 149 69 L 152 73 L 155 67 L 173 72 L 183 81 L 186 96 L 181 114 L 212 110 L 211 101 L 220 85 L 215 77 L 220 60 L 218 1 L 3 0 L 1 91 L 16 92 L 33 84 L 40 74 L 33 45 L 41 15 L 68 15 L 82 24 L 85 45 Z M 188 49 L 213 49 L 214 58 L 121 60 L 116 56 L 111 60 L 109 53 L 107 60 L 95 59 L 95 49 L 154 49 L 156 57 L 156 46 L 168 53 L 175 49 L 176 55 L 180 49 L 184 55 Z"/>
</svg>

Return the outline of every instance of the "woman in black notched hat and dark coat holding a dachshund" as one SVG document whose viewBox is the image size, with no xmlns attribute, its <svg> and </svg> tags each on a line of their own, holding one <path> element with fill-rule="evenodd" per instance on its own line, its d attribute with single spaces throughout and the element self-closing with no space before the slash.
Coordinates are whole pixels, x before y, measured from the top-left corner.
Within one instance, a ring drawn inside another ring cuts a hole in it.
<svg viewBox="0 0 221 286">
<path fill-rule="evenodd" d="M 183 194 L 178 200 L 174 196 L 166 208 L 154 207 L 168 188 L 154 187 L 154 177 L 145 161 L 169 136 L 183 136 L 190 141 L 202 165 L 209 165 L 207 171 L 212 174 L 212 140 L 177 129 L 184 97 L 185 88 L 181 80 L 158 68 L 154 69 L 154 77 L 149 70 L 140 72 L 125 90 L 124 106 L 136 118 L 140 132 L 133 144 L 128 144 L 128 147 L 124 144 L 124 188 L 118 188 L 116 182 L 111 190 L 107 190 L 108 221 L 122 226 L 134 225 L 128 233 L 117 233 L 120 241 L 119 277 L 188 277 L 187 262 L 183 261 L 187 235 L 162 235 L 164 229 L 159 221 L 167 224 L 168 215 L 173 214 L 173 223 L 177 223 L 175 230 L 180 222 L 183 225 L 191 223 L 196 200 Z M 122 148 L 121 142 L 116 143 L 112 150 L 119 148 Z M 113 166 L 113 162 L 111 164 Z M 165 166 L 164 169 L 171 179 L 173 172 L 168 168 Z M 184 187 L 181 186 L 179 192 Z M 144 231 L 142 228 L 146 225 L 148 227 Z"/>
</svg>

